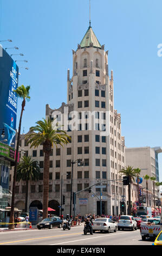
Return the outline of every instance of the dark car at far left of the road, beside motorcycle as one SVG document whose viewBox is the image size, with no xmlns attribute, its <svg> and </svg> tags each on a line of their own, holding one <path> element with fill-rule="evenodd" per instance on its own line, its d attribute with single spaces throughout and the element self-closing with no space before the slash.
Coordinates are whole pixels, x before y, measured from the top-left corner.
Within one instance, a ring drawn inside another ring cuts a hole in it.
<svg viewBox="0 0 162 256">
<path fill-rule="evenodd" d="M 42 220 L 37 224 L 38 229 L 41 229 L 41 228 L 51 229 L 53 227 L 61 228 L 62 220 L 60 220 L 60 218 L 57 218 L 57 217 L 51 217 L 51 218 L 49 217 L 49 218 L 44 218 L 44 220 Z"/>
</svg>

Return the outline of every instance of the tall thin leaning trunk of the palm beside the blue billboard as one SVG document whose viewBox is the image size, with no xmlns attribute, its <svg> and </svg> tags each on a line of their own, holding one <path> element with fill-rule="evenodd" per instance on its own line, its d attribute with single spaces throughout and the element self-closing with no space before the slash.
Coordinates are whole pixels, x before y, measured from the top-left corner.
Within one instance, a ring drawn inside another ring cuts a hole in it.
<svg viewBox="0 0 162 256">
<path fill-rule="evenodd" d="M 22 115 L 25 106 L 25 99 L 22 102 L 22 109 L 20 115 L 20 121 L 18 126 L 18 135 L 17 135 L 17 147 L 16 147 L 16 157 L 15 157 L 15 168 L 14 168 L 14 178 L 13 178 L 13 185 L 12 185 L 12 199 L 11 199 L 11 212 L 10 212 L 10 223 L 9 229 L 14 229 L 14 204 L 15 204 L 15 185 L 16 185 L 16 172 L 17 172 L 17 160 L 18 160 L 18 146 L 20 144 L 20 132 L 21 132 L 21 122 L 22 122 Z"/>
</svg>

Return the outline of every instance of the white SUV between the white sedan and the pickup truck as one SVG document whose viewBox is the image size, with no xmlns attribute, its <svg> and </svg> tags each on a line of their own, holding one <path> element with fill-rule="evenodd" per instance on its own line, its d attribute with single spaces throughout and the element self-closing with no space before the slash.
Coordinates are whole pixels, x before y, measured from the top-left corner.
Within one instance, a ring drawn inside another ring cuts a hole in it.
<svg viewBox="0 0 162 256">
<path fill-rule="evenodd" d="M 133 216 L 121 215 L 118 221 L 118 230 L 120 229 L 137 230 L 137 222 L 134 220 Z"/>
</svg>

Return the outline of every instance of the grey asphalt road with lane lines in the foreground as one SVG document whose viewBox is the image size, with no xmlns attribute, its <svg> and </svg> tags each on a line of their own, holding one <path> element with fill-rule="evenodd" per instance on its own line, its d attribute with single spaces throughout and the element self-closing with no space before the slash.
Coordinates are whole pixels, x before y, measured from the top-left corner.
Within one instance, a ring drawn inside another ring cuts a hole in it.
<svg viewBox="0 0 162 256">
<path fill-rule="evenodd" d="M 142 241 L 140 231 L 96 231 L 93 235 L 83 234 L 83 226 L 63 229 L 29 229 L 0 233 L 0 245 L 152 245 L 151 240 Z"/>
</svg>

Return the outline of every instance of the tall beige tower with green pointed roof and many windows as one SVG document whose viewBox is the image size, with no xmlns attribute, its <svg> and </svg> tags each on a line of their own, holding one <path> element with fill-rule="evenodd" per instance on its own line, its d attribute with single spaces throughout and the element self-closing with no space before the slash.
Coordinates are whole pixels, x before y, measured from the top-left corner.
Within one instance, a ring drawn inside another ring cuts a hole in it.
<svg viewBox="0 0 162 256">
<path fill-rule="evenodd" d="M 75 126 L 73 114 L 77 116 Z M 118 171 L 125 167 L 125 138 L 121 136 L 120 114 L 114 109 L 114 80 L 113 71 L 109 77 L 108 51 L 105 51 L 104 45 L 100 45 L 90 26 L 77 50 L 73 50 L 72 77 L 69 70 L 67 75 L 67 103 L 63 102 L 59 109 L 46 105 L 48 117 L 57 117 L 58 121 L 62 121 L 64 129 L 67 127 L 68 135 L 72 137 L 68 145 L 54 148 L 50 156 L 49 206 L 59 214 L 63 178 L 63 194 L 66 198 L 63 214 L 69 213 L 72 161 L 81 159 L 83 166 L 74 164 L 73 191 L 105 180 L 105 187 L 101 188 L 102 213 L 119 215 L 122 181 L 119 180 L 121 175 Z M 23 154 L 33 156 L 43 172 L 42 146 L 30 149 L 24 141 L 24 135 L 21 135 L 21 142 Z M 117 181 L 106 181 L 111 179 Z M 93 186 L 92 190 L 94 194 L 88 191 L 77 194 L 76 214 L 100 214 L 100 188 Z M 24 209 L 25 181 L 16 183 L 16 191 L 16 206 Z M 42 207 L 42 191 L 41 179 L 30 182 L 29 206 Z"/>
</svg>

